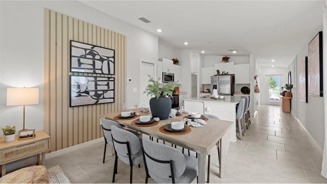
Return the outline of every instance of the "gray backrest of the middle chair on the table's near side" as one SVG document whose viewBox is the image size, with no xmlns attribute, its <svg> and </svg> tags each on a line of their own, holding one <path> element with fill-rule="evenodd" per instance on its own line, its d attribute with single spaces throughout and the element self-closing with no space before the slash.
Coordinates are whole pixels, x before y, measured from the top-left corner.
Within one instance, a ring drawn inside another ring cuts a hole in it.
<svg viewBox="0 0 327 184">
<path fill-rule="evenodd" d="M 125 129 L 111 126 L 111 136 L 113 147 L 117 156 L 126 164 L 132 163 L 130 158 L 139 153 L 141 150 L 141 142 L 138 137 Z M 131 157 L 129 157 L 129 155 Z"/>
</svg>

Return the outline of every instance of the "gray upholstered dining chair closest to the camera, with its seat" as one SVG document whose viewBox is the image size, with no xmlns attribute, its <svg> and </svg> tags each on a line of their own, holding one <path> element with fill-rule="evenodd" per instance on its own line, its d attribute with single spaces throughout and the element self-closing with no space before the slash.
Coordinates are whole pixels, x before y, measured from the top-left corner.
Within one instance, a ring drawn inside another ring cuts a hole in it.
<svg viewBox="0 0 327 184">
<path fill-rule="evenodd" d="M 198 176 L 198 160 L 173 147 L 143 140 L 142 150 L 146 183 L 149 177 L 158 183 L 191 183 Z"/>
</svg>

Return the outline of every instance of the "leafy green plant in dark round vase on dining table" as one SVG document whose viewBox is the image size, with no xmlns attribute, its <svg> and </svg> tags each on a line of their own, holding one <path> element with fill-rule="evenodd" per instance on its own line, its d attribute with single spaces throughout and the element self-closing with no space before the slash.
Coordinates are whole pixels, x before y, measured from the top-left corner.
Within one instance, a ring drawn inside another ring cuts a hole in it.
<svg viewBox="0 0 327 184">
<path fill-rule="evenodd" d="M 159 88 L 158 80 L 154 80 L 149 76 L 149 84 L 145 88 L 143 94 L 151 96 L 150 108 L 153 117 L 160 118 L 160 120 L 166 120 L 169 118 L 169 113 L 172 107 L 172 101 L 167 96 L 173 94 L 175 82 L 169 82 L 165 86 Z"/>
</svg>

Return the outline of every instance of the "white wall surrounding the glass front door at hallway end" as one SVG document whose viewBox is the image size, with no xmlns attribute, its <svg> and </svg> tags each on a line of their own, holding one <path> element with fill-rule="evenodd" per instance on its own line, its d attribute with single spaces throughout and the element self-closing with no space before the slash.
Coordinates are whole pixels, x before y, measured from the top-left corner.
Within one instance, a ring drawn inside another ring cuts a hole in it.
<svg viewBox="0 0 327 184">
<path fill-rule="evenodd" d="M 265 76 L 267 75 L 282 75 L 281 78 L 281 87 L 285 85 L 285 74 L 288 73 L 286 67 L 270 67 L 270 66 L 261 66 L 260 67 L 260 103 L 266 104 L 266 98 L 268 98 L 268 84 L 265 82 Z"/>
</svg>

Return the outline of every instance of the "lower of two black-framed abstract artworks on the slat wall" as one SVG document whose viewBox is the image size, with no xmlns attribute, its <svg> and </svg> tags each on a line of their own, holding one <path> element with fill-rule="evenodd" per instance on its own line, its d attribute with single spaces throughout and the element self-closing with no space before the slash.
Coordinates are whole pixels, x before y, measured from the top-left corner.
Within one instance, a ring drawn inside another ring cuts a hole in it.
<svg viewBox="0 0 327 184">
<path fill-rule="evenodd" d="M 114 102 L 114 78 L 71 75 L 70 107 Z"/>
</svg>

